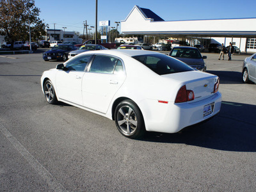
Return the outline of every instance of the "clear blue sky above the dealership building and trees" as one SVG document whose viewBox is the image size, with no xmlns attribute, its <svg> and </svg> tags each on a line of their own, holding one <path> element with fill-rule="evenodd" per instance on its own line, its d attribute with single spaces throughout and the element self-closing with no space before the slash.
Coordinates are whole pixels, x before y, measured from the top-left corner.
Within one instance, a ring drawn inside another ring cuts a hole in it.
<svg viewBox="0 0 256 192">
<path fill-rule="evenodd" d="M 100 20 L 110 20 L 116 26 L 115 21 L 124 20 L 134 5 L 148 8 L 164 20 L 256 18 L 255 0 L 98 0 L 98 25 Z M 65 27 L 82 34 L 83 21 L 95 26 L 95 0 L 35 0 L 35 6 L 51 29 L 56 23 L 56 29 Z"/>
</svg>

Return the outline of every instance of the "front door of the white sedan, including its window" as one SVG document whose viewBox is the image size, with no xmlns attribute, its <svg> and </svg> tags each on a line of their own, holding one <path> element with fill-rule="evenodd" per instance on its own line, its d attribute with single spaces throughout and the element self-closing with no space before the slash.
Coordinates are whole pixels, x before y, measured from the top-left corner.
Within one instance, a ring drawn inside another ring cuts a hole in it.
<svg viewBox="0 0 256 192">
<path fill-rule="evenodd" d="M 80 56 L 68 62 L 64 70 L 58 70 L 56 90 L 60 99 L 83 105 L 82 79 L 91 57 L 92 55 Z"/>
</svg>

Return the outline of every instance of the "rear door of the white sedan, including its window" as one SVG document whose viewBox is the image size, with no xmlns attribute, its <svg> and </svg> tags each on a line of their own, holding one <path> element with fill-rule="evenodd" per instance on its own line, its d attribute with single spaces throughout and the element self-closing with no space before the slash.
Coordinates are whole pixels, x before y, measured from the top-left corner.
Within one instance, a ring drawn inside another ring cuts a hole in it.
<svg viewBox="0 0 256 192">
<path fill-rule="evenodd" d="M 125 77 L 124 65 L 120 59 L 114 56 L 96 55 L 88 72 L 83 76 L 84 106 L 106 113 Z"/>
</svg>

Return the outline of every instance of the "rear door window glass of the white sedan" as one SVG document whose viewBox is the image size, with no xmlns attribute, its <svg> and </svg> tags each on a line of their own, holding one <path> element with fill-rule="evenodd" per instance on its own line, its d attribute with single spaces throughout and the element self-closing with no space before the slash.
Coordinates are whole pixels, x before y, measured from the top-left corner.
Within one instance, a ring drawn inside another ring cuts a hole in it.
<svg viewBox="0 0 256 192">
<path fill-rule="evenodd" d="M 92 62 L 90 72 L 113 74 L 115 61 L 116 58 L 114 57 L 97 55 Z"/>
</svg>

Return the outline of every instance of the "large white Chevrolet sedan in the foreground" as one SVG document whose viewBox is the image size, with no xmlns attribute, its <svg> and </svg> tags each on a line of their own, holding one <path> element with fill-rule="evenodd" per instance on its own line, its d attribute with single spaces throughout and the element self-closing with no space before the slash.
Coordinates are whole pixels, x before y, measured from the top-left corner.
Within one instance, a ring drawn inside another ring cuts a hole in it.
<svg viewBox="0 0 256 192">
<path fill-rule="evenodd" d="M 106 116 L 128 138 L 179 132 L 221 108 L 218 76 L 152 51 L 83 52 L 45 71 L 41 84 L 50 104 L 61 101 Z"/>
</svg>

